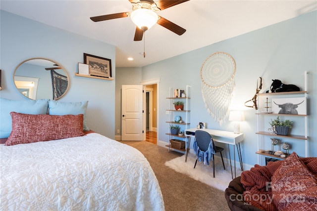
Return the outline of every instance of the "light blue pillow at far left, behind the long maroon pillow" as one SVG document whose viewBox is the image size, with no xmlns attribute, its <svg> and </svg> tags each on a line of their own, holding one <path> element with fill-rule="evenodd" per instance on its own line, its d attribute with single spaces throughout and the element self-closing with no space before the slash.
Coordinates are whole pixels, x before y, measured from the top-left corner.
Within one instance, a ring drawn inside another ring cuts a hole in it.
<svg viewBox="0 0 317 211">
<path fill-rule="evenodd" d="M 9 100 L 0 98 L 0 138 L 7 138 L 11 133 L 11 111 L 22 114 L 47 114 L 48 107 L 49 99 Z"/>
</svg>

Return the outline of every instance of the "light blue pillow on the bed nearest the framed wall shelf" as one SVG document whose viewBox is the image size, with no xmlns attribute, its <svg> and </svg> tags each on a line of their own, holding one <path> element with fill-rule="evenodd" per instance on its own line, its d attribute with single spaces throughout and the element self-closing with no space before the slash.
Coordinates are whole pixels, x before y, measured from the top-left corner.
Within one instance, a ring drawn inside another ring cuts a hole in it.
<svg viewBox="0 0 317 211">
<path fill-rule="evenodd" d="M 49 101 L 49 114 L 51 115 L 84 115 L 84 131 L 88 131 L 86 121 L 86 110 L 88 106 L 88 101 L 83 102 L 59 102 L 56 100 Z"/>
</svg>

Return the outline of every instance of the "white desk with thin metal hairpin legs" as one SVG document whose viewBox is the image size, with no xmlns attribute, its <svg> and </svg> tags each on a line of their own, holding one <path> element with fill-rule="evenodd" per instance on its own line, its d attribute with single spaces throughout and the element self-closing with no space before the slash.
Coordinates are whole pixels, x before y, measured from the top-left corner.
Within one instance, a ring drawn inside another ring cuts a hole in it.
<svg viewBox="0 0 317 211">
<path fill-rule="evenodd" d="M 235 161 L 235 146 L 237 146 L 237 152 L 238 157 L 240 161 L 241 170 L 243 171 L 243 162 L 242 162 L 242 156 L 241 156 L 241 148 L 240 148 L 240 142 L 244 139 L 243 133 L 233 133 L 229 131 L 224 130 L 216 130 L 216 129 L 197 129 L 197 128 L 189 128 L 185 130 L 185 135 L 189 137 L 188 144 L 187 144 L 187 150 L 186 150 L 186 161 L 187 156 L 189 152 L 189 145 L 190 145 L 190 139 L 191 137 L 195 137 L 194 133 L 196 130 L 204 130 L 211 134 L 212 140 L 219 143 L 225 143 L 228 144 L 228 150 L 229 150 L 229 160 L 230 160 L 230 168 L 231 168 L 231 176 L 233 179 L 233 173 L 232 173 L 232 165 L 231 165 L 231 156 L 230 156 L 230 145 L 233 145 L 233 157 Z M 190 133 L 190 134 L 187 134 Z M 236 177 L 236 162 L 234 162 L 234 176 Z"/>
</svg>

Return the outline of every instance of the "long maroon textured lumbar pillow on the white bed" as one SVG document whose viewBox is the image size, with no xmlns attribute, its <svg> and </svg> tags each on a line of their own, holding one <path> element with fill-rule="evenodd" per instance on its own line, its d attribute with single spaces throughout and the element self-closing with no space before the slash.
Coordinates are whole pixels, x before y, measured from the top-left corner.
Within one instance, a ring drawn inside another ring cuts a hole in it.
<svg viewBox="0 0 317 211">
<path fill-rule="evenodd" d="M 27 144 L 85 135 L 83 114 L 32 115 L 10 112 L 12 131 L 4 145 Z"/>
</svg>

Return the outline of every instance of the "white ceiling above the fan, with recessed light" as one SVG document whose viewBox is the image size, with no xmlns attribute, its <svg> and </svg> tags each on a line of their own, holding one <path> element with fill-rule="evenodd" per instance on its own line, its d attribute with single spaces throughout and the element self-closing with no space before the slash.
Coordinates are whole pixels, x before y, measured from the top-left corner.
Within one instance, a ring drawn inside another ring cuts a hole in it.
<svg viewBox="0 0 317 211">
<path fill-rule="evenodd" d="M 90 20 L 91 16 L 131 12 L 128 0 L 0 0 L 0 8 L 113 44 L 116 67 L 142 67 L 311 12 L 317 9 L 317 0 L 186 1 L 158 14 L 187 31 L 178 36 L 156 24 L 145 33 L 145 58 L 144 39 L 133 41 L 135 25 L 129 17 Z"/>
</svg>

